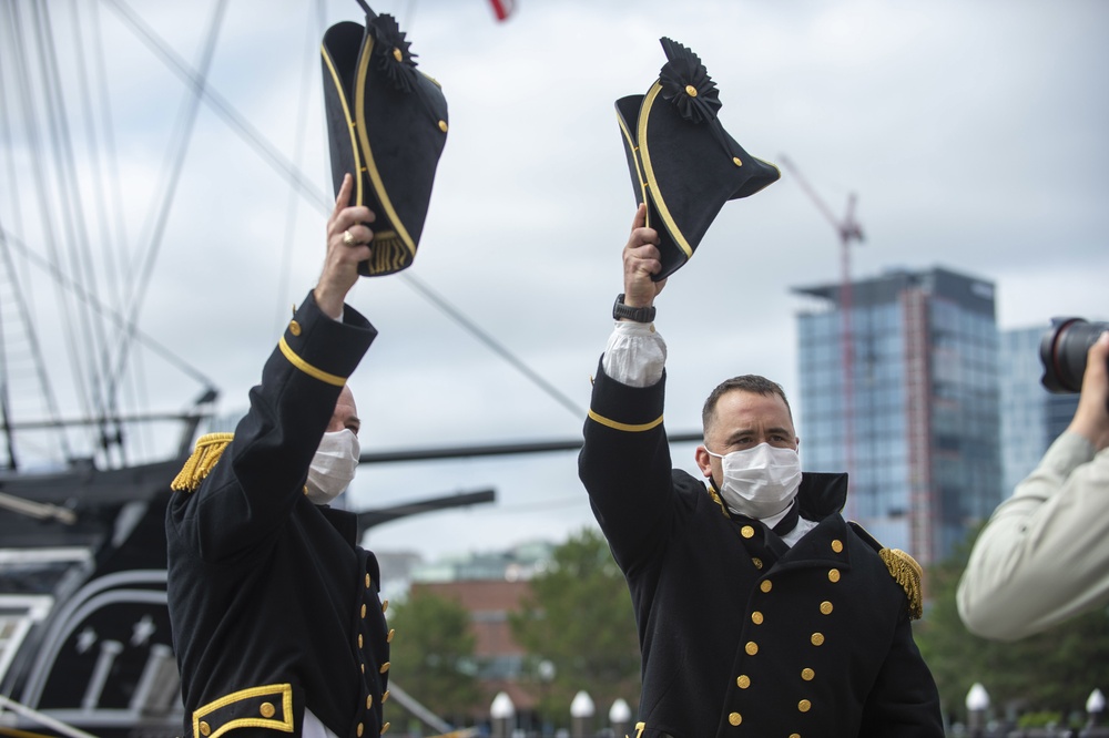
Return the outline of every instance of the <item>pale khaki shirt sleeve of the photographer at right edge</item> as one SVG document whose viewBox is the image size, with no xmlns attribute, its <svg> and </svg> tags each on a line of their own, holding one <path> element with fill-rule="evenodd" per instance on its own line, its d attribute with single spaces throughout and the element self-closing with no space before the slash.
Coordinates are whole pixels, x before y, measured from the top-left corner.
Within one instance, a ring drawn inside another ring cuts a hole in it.
<svg viewBox="0 0 1109 738">
<path fill-rule="evenodd" d="M 1060 435 L 998 505 L 958 588 L 976 635 L 1015 640 L 1109 603 L 1109 449 Z"/>
</svg>

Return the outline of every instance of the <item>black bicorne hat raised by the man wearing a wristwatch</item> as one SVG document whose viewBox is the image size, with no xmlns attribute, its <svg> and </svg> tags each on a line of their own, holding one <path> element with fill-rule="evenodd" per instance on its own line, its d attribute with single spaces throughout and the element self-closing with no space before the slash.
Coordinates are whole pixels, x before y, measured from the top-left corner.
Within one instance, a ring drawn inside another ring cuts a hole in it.
<svg viewBox="0 0 1109 738">
<path fill-rule="evenodd" d="M 635 201 L 659 233 L 669 277 L 693 256 L 720 208 L 775 182 L 777 167 L 751 156 L 724 131 L 716 85 L 701 59 L 660 39 L 667 63 L 645 95 L 617 101 Z"/>
</svg>

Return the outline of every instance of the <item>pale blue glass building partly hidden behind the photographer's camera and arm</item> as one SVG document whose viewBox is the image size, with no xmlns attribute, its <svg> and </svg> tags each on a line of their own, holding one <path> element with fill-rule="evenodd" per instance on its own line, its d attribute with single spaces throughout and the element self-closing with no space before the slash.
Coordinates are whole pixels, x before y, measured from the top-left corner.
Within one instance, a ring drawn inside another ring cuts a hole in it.
<svg viewBox="0 0 1109 738">
<path fill-rule="evenodd" d="M 1001 332 L 998 380 L 1001 394 L 1001 479 L 1004 495 L 1036 468 L 1047 447 L 1067 429 L 1078 408 L 1077 394 L 1052 394 L 1040 377 L 1045 322 Z"/>
</svg>

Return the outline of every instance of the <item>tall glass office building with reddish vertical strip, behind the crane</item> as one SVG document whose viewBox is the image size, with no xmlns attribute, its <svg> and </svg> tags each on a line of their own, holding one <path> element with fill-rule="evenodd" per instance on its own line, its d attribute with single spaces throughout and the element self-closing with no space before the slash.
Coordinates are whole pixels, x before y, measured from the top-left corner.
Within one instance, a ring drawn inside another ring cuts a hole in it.
<svg viewBox="0 0 1109 738">
<path fill-rule="evenodd" d="M 848 519 L 922 564 L 944 558 L 1001 500 L 993 284 L 935 268 L 793 291 L 812 299 L 797 316 L 804 469 L 847 471 Z"/>
</svg>

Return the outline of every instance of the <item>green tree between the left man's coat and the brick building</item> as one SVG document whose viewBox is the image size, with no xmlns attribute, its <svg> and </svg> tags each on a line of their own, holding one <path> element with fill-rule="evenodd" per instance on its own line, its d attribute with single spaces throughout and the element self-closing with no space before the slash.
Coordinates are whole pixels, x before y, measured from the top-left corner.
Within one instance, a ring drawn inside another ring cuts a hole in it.
<svg viewBox="0 0 1109 738">
<path fill-rule="evenodd" d="M 416 587 L 394 607 L 389 622 L 397 624 L 390 678 L 436 715 L 464 725 L 480 701 L 469 613 L 454 599 Z"/>
</svg>

